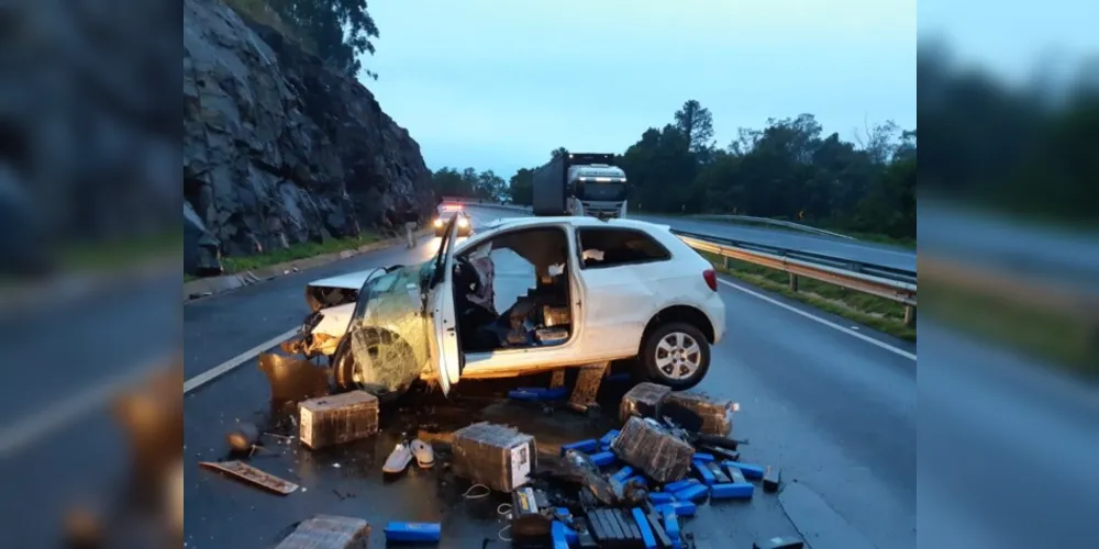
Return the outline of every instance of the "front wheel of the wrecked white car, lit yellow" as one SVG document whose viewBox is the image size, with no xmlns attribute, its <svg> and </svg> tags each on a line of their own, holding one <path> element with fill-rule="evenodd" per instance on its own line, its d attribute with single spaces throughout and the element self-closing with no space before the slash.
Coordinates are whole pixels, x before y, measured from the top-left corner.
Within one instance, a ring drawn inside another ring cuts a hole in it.
<svg viewBox="0 0 1099 549">
<path fill-rule="evenodd" d="M 396 334 L 379 329 L 348 330 L 332 355 L 336 386 L 360 389 L 382 403 L 400 399 L 419 379 L 412 347 Z"/>
</svg>

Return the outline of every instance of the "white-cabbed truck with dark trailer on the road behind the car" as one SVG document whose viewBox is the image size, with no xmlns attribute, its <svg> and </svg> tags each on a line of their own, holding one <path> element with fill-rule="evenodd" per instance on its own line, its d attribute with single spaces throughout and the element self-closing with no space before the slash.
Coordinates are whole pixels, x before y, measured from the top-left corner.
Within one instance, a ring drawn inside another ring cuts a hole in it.
<svg viewBox="0 0 1099 549">
<path fill-rule="evenodd" d="M 629 187 L 614 155 L 565 153 L 534 170 L 534 215 L 625 217 Z"/>
</svg>

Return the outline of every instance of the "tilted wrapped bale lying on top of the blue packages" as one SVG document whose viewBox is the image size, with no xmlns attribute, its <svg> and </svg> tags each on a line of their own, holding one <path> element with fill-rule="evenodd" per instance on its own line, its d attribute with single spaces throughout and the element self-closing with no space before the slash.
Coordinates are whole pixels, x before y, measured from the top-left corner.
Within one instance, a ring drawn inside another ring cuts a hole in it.
<svg viewBox="0 0 1099 549">
<path fill-rule="evenodd" d="M 611 445 L 619 459 L 659 483 L 690 472 L 695 448 L 652 419 L 631 417 Z"/>
</svg>

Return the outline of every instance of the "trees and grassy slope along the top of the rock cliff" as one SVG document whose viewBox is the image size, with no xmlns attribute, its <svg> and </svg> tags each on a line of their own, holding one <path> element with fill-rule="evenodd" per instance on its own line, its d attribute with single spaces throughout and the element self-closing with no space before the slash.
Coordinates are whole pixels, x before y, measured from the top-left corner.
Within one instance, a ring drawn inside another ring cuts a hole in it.
<svg viewBox="0 0 1099 549">
<path fill-rule="evenodd" d="M 371 38 L 378 27 L 366 0 L 226 0 L 242 15 L 265 24 L 315 54 L 333 70 L 357 78 L 364 69 L 358 56 L 374 55 Z"/>
</svg>

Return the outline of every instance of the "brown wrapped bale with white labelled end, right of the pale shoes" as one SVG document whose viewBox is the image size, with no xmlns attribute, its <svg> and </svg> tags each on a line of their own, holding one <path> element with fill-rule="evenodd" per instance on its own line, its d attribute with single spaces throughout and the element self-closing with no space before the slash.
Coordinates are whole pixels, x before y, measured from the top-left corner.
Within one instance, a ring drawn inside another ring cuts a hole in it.
<svg viewBox="0 0 1099 549">
<path fill-rule="evenodd" d="M 534 437 L 504 425 L 475 423 L 454 433 L 454 473 L 498 492 L 526 484 L 536 469 Z"/>
</svg>

